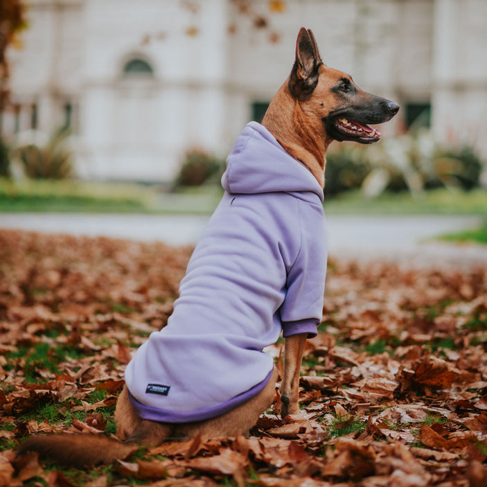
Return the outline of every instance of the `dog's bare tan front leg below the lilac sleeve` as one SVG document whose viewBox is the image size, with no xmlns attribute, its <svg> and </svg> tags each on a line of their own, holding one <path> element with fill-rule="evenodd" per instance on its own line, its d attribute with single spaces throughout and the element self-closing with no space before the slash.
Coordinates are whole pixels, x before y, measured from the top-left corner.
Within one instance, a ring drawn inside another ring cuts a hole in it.
<svg viewBox="0 0 487 487">
<path fill-rule="evenodd" d="M 281 383 L 281 417 L 299 414 L 299 371 L 308 333 L 291 335 L 285 339 L 284 377 Z"/>
</svg>

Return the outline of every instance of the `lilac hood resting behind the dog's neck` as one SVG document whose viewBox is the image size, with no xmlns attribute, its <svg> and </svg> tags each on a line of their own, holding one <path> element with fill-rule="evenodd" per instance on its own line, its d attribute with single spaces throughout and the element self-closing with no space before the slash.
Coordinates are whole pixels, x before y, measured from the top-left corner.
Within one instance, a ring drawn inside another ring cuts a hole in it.
<svg viewBox="0 0 487 487">
<path fill-rule="evenodd" d="M 312 192 L 324 200 L 323 188 L 310 170 L 256 122 L 248 123 L 233 145 L 222 186 L 233 194 Z"/>
</svg>

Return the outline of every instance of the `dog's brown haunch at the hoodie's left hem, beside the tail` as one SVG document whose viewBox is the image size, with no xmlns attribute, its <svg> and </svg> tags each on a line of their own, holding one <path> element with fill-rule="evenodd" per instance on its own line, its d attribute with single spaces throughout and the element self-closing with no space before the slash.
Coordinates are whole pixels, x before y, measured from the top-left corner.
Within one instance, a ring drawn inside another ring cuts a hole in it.
<svg viewBox="0 0 487 487">
<path fill-rule="evenodd" d="M 160 445 L 171 436 L 174 425 L 142 419 L 130 403 L 127 386 L 118 397 L 115 409 L 116 436 L 144 446 Z"/>
</svg>

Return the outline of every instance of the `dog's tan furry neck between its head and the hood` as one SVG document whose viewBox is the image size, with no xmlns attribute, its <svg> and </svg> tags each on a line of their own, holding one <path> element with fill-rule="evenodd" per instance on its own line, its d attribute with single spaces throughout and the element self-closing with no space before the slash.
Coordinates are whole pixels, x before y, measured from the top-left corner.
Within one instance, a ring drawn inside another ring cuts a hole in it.
<svg viewBox="0 0 487 487">
<path fill-rule="evenodd" d="M 262 125 L 276 138 L 286 152 L 301 161 L 324 187 L 326 141 L 324 125 L 307 116 L 298 100 L 292 97 L 287 82 L 272 98 Z"/>
</svg>

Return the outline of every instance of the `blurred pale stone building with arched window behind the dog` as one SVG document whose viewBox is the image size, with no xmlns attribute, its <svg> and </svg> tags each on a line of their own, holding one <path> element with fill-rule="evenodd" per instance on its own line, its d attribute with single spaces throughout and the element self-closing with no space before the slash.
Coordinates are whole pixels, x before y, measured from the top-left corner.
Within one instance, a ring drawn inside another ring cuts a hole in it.
<svg viewBox="0 0 487 487">
<path fill-rule="evenodd" d="M 171 179 L 262 116 L 306 26 L 326 64 L 402 105 L 385 135 L 430 125 L 487 156 L 486 18 L 485 0 L 30 0 L 2 132 L 70 127 L 82 177 Z"/>
</svg>

